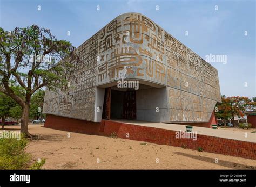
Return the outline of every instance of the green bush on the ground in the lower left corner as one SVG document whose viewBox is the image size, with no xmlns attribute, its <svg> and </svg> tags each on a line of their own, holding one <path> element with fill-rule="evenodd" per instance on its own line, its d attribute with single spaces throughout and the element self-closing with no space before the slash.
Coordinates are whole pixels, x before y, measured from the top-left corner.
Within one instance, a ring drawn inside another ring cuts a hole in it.
<svg viewBox="0 0 256 187">
<path fill-rule="evenodd" d="M 9 132 L 3 133 L 6 134 Z M 32 156 L 25 153 L 25 147 L 27 145 L 28 140 L 24 134 L 21 134 L 20 140 L 15 138 L 1 138 L 0 169 L 40 169 L 45 163 L 45 159 L 42 159 L 40 163 L 31 164 Z"/>
</svg>

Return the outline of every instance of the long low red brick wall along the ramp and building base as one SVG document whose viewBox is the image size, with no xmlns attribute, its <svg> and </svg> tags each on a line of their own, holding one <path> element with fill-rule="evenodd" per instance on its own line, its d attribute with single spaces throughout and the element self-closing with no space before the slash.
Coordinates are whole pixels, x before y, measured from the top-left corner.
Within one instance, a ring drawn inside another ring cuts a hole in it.
<svg viewBox="0 0 256 187">
<path fill-rule="evenodd" d="M 77 120 L 65 117 L 47 115 L 45 127 L 65 130 L 70 132 L 97 134 L 110 136 L 115 132 L 119 138 L 157 143 L 181 147 L 186 145 L 189 149 L 205 152 L 225 154 L 256 160 L 256 143 L 218 138 L 214 136 L 197 134 L 197 140 L 177 139 L 176 131 L 161 128 L 145 127 L 139 125 L 125 124 L 116 121 L 102 120 L 102 123 Z M 129 133 L 129 138 L 126 137 Z"/>
</svg>

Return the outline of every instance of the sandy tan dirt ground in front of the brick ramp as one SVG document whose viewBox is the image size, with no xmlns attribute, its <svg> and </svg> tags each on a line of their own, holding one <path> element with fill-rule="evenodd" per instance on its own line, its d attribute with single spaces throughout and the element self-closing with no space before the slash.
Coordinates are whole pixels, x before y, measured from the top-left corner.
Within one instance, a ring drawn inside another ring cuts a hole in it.
<svg viewBox="0 0 256 187">
<path fill-rule="evenodd" d="M 31 124 L 29 131 L 40 138 L 30 141 L 26 152 L 46 159 L 42 169 L 256 169 L 255 160 L 72 132 L 68 138 L 69 132 L 43 124 Z"/>
</svg>

